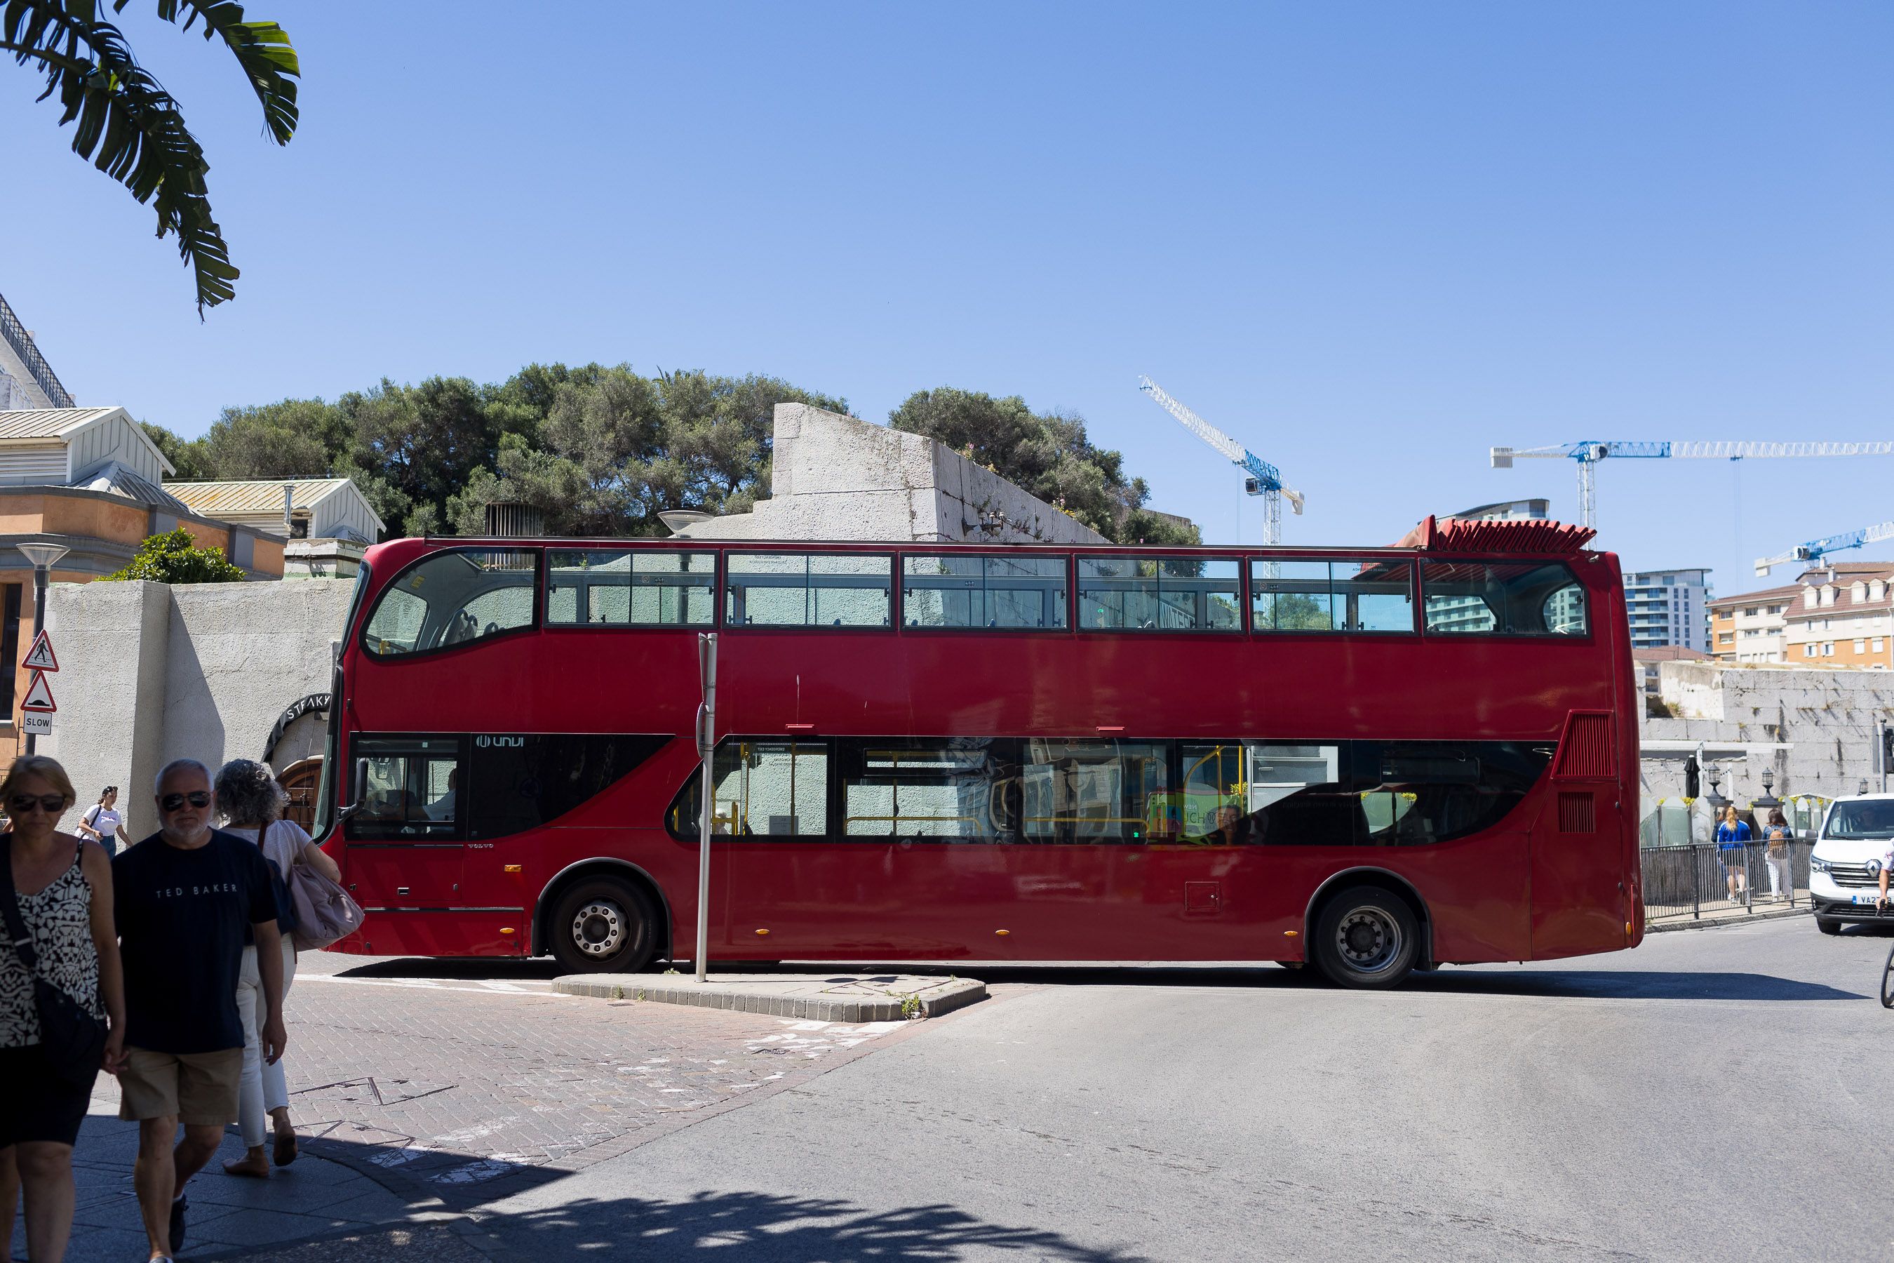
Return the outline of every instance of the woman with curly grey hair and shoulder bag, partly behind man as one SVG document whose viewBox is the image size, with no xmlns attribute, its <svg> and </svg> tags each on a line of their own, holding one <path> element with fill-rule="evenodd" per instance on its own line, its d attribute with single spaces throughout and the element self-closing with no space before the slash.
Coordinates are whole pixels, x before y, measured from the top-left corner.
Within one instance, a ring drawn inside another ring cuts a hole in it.
<svg viewBox="0 0 1894 1263">
<path fill-rule="evenodd" d="M 256 843 L 263 858 L 269 860 L 284 882 L 290 869 L 307 863 L 330 881 L 341 881 L 341 869 L 322 854 L 311 841 L 303 826 L 282 818 L 282 809 L 290 795 L 277 784 L 277 773 L 267 763 L 254 759 L 231 759 L 218 771 L 216 782 L 218 810 L 223 814 L 223 831 Z M 295 977 L 295 943 L 292 935 L 282 935 L 282 990 L 290 990 Z M 237 1096 L 237 1127 L 248 1153 L 233 1163 L 223 1163 L 231 1176 L 269 1176 L 269 1157 L 263 1153 L 263 1113 L 275 1121 L 277 1166 L 295 1161 L 295 1127 L 290 1123 L 290 1085 L 282 1074 L 282 1058 L 273 1064 L 263 1062 L 258 1041 L 258 1023 L 269 1011 L 263 998 L 263 977 L 256 968 L 256 945 L 242 949 L 242 973 L 237 979 L 237 1013 L 242 1017 L 242 1087 Z"/>
</svg>

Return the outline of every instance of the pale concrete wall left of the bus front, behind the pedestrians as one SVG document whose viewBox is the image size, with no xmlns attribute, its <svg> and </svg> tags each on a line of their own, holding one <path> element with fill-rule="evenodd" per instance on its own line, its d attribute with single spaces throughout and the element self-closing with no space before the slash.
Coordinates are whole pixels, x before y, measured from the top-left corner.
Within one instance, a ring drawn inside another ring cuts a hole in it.
<svg viewBox="0 0 1894 1263">
<path fill-rule="evenodd" d="M 64 763 L 80 793 L 66 827 L 116 784 L 127 831 L 142 837 L 157 827 L 152 778 L 169 759 L 216 769 L 263 757 L 277 718 L 330 691 L 352 593 L 341 579 L 53 585 L 59 714 L 40 752 Z M 307 754 L 309 727 L 278 744 L 277 771 Z"/>
</svg>

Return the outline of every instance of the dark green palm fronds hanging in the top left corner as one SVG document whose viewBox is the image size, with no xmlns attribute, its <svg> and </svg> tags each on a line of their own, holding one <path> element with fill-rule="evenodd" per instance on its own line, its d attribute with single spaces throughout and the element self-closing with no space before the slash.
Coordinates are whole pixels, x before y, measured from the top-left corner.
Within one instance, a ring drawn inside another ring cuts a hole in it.
<svg viewBox="0 0 1894 1263">
<path fill-rule="evenodd" d="M 123 13 L 131 0 L 112 0 Z M 40 100 L 59 97 L 59 125 L 78 123 L 72 151 L 157 210 L 157 235 L 176 237 L 197 278 L 197 314 L 237 294 L 237 267 L 210 214 L 205 172 L 210 163 L 184 125 L 178 102 L 133 57 L 131 44 L 100 19 L 98 0 L 6 0 L 0 51 L 45 74 Z M 301 66 L 277 23 L 244 21 L 235 0 L 157 0 L 157 15 L 205 40 L 223 40 L 263 106 L 277 144 L 295 134 L 295 80 Z"/>
</svg>

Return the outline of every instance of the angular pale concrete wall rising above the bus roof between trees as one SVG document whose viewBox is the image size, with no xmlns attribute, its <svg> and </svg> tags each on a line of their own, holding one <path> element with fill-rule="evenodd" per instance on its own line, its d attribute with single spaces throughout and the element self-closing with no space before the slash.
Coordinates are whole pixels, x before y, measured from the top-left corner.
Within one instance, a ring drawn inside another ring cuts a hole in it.
<svg viewBox="0 0 1894 1263">
<path fill-rule="evenodd" d="M 769 500 L 686 526 L 691 540 L 991 540 L 1104 536 L 919 434 L 778 403 Z"/>
</svg>

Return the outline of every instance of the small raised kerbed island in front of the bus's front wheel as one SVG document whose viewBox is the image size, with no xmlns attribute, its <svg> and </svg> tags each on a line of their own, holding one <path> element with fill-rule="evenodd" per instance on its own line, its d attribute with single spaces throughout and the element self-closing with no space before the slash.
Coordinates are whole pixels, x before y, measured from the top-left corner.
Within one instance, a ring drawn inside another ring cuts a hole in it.
<svg viewBox="0 0 1894 1263">
<path fill-rule="evenodd" d="M 913 973 L 724 973 L 705 983 L 678 973 L 572 973 L 553 979 L 553 990 L 822 1023 L 939 1017 L 987 998 L 979 979 Z"/>
</svg>

